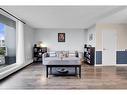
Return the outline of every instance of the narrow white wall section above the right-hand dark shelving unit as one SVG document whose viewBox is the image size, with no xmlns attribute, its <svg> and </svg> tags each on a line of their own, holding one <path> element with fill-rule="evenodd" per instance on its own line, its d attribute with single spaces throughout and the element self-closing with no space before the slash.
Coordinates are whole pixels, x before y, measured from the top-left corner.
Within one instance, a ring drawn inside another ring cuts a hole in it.
<svg viewBox="0 0 127 95">
<path fill-rule="evenodd" d="M 96 45 L 96 39 L 95 39 L 96 29 L 95 28 L 96 28 L 95 26 L 92 26 L 92 27 L 88 28 L 88 30 L 87 30 L 87 44 L 91 45 L 92 47 L 95 47 L 95 45 Z M 92 40 L 89 39 L 91 34 L 93 35 Z"/>
</svg>

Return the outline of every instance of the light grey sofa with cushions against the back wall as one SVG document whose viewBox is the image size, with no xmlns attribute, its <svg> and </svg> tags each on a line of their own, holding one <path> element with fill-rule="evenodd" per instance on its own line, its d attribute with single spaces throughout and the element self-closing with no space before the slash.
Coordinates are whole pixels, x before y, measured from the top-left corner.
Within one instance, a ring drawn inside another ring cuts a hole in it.
<svg viewBox="0 0 127 95">
<path fill-rule="evenodd" d="M 42 55 L 42 64 L 47 65 L 52 60 L 76 60 L 81 62 L 83 60 L 83 53 L 74 51 L 55 51 L 46 52 Z"/>
</svg>

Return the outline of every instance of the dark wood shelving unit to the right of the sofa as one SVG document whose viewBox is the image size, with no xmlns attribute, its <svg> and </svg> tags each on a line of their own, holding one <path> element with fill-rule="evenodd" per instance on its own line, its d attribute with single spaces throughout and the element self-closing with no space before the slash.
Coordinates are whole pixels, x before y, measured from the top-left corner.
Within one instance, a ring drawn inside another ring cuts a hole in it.
<svg viewBox="0 0 127 95">
<path fill-rule="evenodd" d="M 94 65 L 95 47 L 85 47 L 84 59 L 87 64 Z"/>
</svg>

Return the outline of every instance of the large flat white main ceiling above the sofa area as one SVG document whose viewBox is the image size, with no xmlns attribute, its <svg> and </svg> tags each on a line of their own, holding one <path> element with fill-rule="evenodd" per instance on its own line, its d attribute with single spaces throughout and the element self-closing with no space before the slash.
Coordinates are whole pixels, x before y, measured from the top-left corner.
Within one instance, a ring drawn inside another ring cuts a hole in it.
<svg viewBox="0 0 127 95">
<path fill-rule="evenodd" d="M 2 6 L 34 28 L 85 29 L 120 11 L 118 6 Z M 127 13 L 127 12 L 126 12 Z"/>
</svg>

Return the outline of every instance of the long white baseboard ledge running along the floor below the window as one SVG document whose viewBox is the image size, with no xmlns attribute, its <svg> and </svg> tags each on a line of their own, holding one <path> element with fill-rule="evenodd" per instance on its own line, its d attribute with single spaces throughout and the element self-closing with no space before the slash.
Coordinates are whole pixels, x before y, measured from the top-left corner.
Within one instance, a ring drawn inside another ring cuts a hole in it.
<svg viewBox="0 0 127 95">
<path fill-rule="evenodd" d="M 22 69 L 23 67 L 29 65 L 29 64 L 32 63 L 32 62 L 33 62 L 33 60 L 30 59 L 30 60 L 28 60 L 28 61 L 27 61 L 26 63 L 24 63 L 24 64 L 15 63 L 15 64 L 12 64 L 12 65 L 10 65 L 10 66 L 7 66 L 7 67 L 1 69 L 1 70 L 0 70 L 0 80 L 3 79 L 3 78 L 5 78 L 5 77 L 7 77 L 7 76 L 9 76 L 10 74 L 12 74 L 12 73 L 14 73 L 14 72 L 16 72 L 16 71 Z"/>
</svg>

